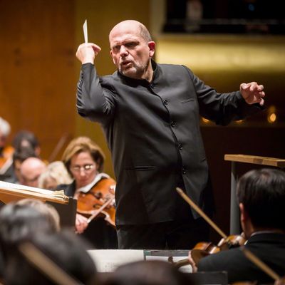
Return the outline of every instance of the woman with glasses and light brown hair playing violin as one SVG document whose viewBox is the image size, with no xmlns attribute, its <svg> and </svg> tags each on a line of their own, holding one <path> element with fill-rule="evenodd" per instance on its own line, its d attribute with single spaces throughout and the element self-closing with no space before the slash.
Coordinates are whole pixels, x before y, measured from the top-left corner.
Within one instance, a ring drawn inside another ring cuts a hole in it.
<svg viewBox="0 0 285 285">
<path fill-rule="evenodd" d="M 63 153 L 63 163 L 73 177 L 70 185 L 59 185 L 69 197 L 81 199 L 98 182 L 110 177 L 103 170 L 104 154 L 90 138 L 79 137 L 71 140 Z M 79 201 L 78 201 L 79 202 Z M 97 249 L 118 248 L 115 229 L 103 217 L 96 217 L 88 224 L 88 218 L 76 214 L 76 232 L 82 234 Z"/>
</svg>

